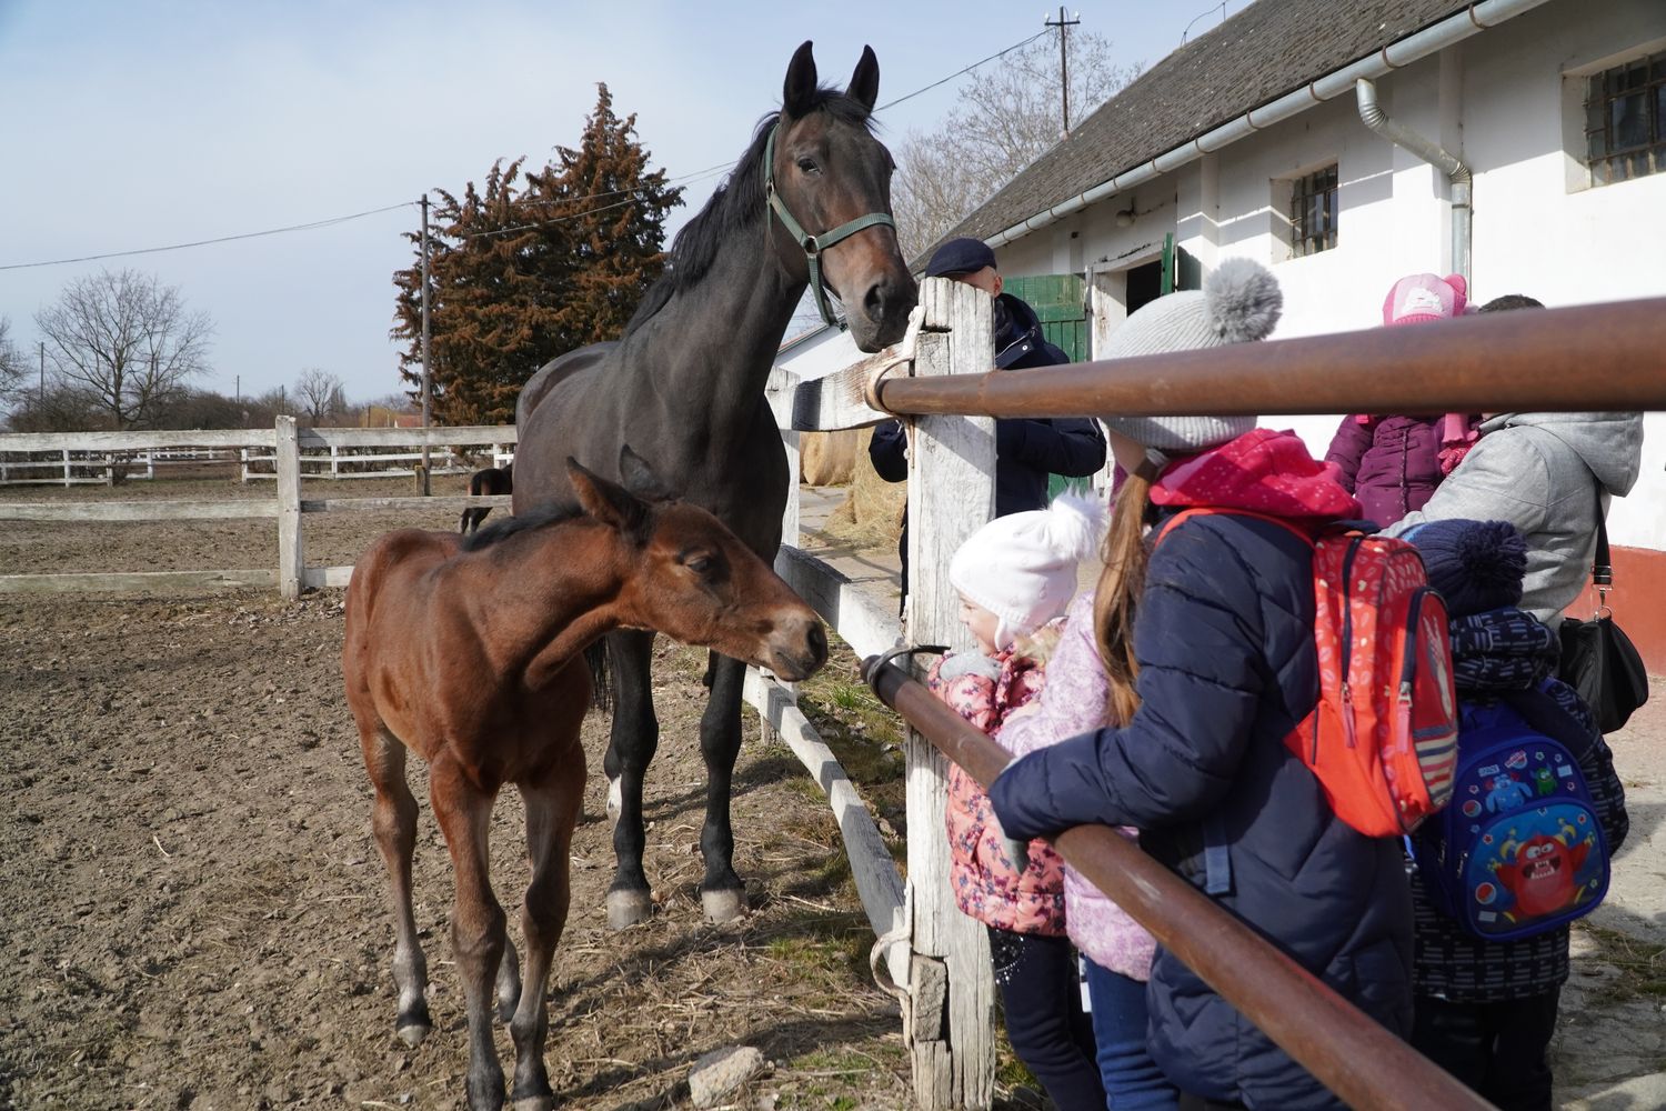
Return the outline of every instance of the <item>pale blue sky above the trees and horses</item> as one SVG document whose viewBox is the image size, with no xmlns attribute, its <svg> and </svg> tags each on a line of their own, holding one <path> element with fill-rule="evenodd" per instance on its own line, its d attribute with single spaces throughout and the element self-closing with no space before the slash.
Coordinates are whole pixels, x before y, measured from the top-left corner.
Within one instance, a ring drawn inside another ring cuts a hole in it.
<svg viewBox="0 0 1666 1111">
<path fill-rule="evenodd" d="M 1160 60 L 1191 3 L 1081 3 L 1121 63 Z M 1240 10 L 1233 0 L 1228 13 Z M 1051 12 L 1056 13 L 1056 7 Z M 578 138 L 606 82 L 673 178 L 740 155 L 780 103 L 805 38 L 825 80 L 863 43 L 880 103 L 1041 30 L 1045 5 L 402 3 L 347 0 L 0 0 L 0 267 L 243 235 L 461 192 L 495 158 L 543 165 Z M 893 142 L 930 128 L 958 78 L 880 113 Z M 715 178 L 688 183 L 688 207 Z M 177 286 L 215 323 L 213 373 L 245 395 L 318 366 L 352 400 L 400 388 L 392 273 L 412 260 L 408 207 L 325 228 L 90 263 L 0 270 L 0 316 L 35 355 L 33 315 L 100 268 Z"/>
</svg>

